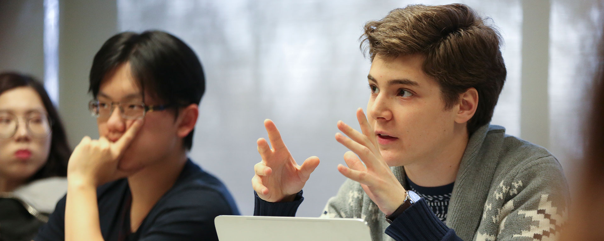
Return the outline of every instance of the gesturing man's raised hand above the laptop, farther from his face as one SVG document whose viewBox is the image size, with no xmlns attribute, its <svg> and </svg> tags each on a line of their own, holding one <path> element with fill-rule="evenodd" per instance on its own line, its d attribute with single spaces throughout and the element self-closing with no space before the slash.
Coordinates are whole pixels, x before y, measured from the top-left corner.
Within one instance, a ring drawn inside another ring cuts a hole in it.
<svg viewBox="0 0 604 241">
<path fill-rule="evenodd" d="M 252 187 L 264 201 L 294 201 L 296 193 L 302 190 L 312 171 L 319 165 L 319 158 L 309 157 L 299 166 L 283 143 L 275 124 L 269 119 L 264 124 L 272 149 L 264 138 L 258 139 L 262 161 L 254 166 Z"/>
</svg>

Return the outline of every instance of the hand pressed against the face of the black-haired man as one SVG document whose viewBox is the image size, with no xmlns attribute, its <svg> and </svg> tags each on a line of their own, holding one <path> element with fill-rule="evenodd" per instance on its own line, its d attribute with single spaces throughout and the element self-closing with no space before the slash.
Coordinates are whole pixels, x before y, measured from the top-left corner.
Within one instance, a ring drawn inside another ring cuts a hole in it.
<svg viewBox="0 0 604 241">
<path fill-rule="evenodd" d="M 135 121 L 114 143 L 106 137 L 100 137 L 98 140 L 84 137 L 69 157 L 68 183 L 98 187 L 109 181 L 126 177 L 125 172 L 117 169 L 118 163 L 142 123 L 142 120 Z"/>
</svg>

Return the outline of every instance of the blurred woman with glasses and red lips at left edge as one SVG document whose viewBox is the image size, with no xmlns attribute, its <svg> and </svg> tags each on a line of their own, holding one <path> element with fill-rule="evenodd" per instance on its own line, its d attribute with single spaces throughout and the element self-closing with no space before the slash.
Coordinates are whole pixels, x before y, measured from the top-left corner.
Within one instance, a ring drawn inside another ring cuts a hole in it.
<svg viewBox="0 0 604 241">
<path fill-rule="evenodd" d="M 71 149 L 42 84 L 0 74 L 0 240 L 31 240 L 67 189 Z"/>
</svg>

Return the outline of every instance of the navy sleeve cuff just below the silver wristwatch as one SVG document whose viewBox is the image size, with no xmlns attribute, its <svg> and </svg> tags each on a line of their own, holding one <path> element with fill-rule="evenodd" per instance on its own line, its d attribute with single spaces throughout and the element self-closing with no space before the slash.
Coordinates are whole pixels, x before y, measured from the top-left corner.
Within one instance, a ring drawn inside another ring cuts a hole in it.
<svg viewBox="0 0 604 241">
<path fill-rule="evenodd" d="M 399 241 L 431 241 L 442 240 L 449 229 L 432 213 L 428 202 L 422 198 L 394 219 L 385 233 Z"/>
</svg>

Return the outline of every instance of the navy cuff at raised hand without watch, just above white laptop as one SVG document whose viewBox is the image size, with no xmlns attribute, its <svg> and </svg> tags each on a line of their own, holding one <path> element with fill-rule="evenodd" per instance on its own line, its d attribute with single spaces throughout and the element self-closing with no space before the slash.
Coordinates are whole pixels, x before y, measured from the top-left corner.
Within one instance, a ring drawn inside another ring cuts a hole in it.
<svg viewBox="0 0 604 241">
<path fill-rule="evenodd" d="M 294 201 L 291 202 L 267 202 L 258 196 L 254 191 L 254 216 L 296 216 L 298 207 L 304 201 L 302 190 L 296 194 Z"/>
</svg>

